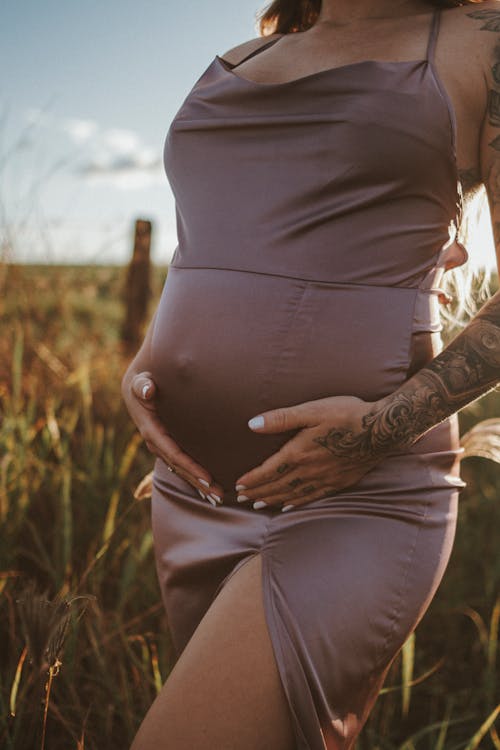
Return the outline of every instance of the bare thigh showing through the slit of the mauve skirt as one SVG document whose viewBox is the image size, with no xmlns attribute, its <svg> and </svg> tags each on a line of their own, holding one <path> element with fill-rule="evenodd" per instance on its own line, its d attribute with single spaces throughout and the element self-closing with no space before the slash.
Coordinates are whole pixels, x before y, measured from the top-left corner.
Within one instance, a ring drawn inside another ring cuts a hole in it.
<svg viewBox="0 0 500 750">
<path fill-rule="evenodd" d="M 261 569 L 261 555 L 254 555 L 227 581 L 131 750 L 295 750 L 264 615 Z"/>
</svg>

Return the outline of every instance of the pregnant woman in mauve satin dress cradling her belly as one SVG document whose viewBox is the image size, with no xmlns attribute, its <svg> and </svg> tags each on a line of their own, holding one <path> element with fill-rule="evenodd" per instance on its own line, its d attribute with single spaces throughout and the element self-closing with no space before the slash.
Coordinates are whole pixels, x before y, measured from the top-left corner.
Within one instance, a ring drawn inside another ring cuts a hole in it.
<svg viewBox="0 0 500 750">
<path fill-rule="evenodd" d="M 354 746 L 448 563 L 457 412 L 500 381 L 499 294 L 440 336 L 481 183 L 500 242 L 500 3 L 260 23 L 168 130 L 178 246 L 122 381 L 177 654 L 133 750 Z"/>
</svg>

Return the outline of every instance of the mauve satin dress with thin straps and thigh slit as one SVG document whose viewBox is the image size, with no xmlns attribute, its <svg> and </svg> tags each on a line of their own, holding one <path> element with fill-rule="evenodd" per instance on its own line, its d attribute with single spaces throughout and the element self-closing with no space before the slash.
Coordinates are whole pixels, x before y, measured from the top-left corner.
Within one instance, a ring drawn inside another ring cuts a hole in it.
<svg viewBox="0 0 500 750">
<path fill-rule="evenodd" d="M 433 63 L 439 20 L 425 59 L 286 83 L 245 79 L 217 55 L 165 141 L 178 246 L 151 371 L 162 421 L 225 499 L 213 507 L 156 459 L 158 579 L 180 655 L 229 576 L 262 555 L 300 750 L 353 746 L 436 592 L 465 486 L 457 419 L 288 513 L 237 503 L 234 482 L 296 432 L 259 435 L 250 417 L 381 398 L 442 348 L 439 283 L 467 252 L 455 241 L 455 113 Z"/>
</svg>

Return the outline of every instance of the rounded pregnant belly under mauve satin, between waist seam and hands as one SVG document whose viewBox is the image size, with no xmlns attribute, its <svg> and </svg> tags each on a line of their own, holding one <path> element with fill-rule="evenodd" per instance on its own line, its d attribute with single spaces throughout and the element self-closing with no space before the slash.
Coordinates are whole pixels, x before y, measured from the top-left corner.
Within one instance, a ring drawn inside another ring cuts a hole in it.
<svg viewBox="0 0 500 750">
<path fill-rule="evenodd" d="M 334 395 L 372 401 L 401 384 L 415 294 L 171 266 L 151 345 L 160 419 L 231 491 L 296 432 L 259 435 L 250 417 Z"/>
</svg>

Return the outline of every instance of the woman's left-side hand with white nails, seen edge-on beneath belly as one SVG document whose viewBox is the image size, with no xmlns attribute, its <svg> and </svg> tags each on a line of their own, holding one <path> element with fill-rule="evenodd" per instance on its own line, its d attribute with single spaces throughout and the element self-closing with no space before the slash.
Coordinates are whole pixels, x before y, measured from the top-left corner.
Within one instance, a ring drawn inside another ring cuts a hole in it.
<svg viewBox="0 0 500 750">
<path fill-rule="evenodd" d="M 223 489 L 206 469 L 184 453 L 160 421 L 155 404 L 156 386 L 150 372 L 126 372 L 122 396 L 127 410 L 141 433 L 148 450 L 159 456 L 180 477 L 195 487 L 212 505 L 222 502 Z"/>
</svg>

